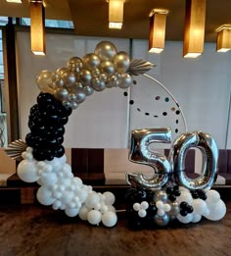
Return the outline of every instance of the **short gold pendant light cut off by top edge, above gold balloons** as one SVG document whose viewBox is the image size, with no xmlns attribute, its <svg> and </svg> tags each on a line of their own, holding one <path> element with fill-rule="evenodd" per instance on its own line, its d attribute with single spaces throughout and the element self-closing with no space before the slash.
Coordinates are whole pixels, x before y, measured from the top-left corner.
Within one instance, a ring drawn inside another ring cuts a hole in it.
<svg viewBox="0 0 231 256">
<path fill-rule="evenodd" d="M 120 29 L 123 22 L 124 0 L 109 0 L 109 27 Z"/>
</svg>

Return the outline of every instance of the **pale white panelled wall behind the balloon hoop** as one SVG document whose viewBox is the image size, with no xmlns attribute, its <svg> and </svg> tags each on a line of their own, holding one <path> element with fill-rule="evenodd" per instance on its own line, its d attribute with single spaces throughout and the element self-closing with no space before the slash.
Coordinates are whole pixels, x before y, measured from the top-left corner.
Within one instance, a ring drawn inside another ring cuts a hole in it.
<svg viewBox="0 0 231 256">
<path fill-rule="evenodd" d="M 146 40 L 133 40 L 129 45 L 127 39 L 47 34 L 47 55 L 38 57 L 30 52 L 28 32 L 17 33 L 22 138 L 28 132 L 29 109 L 39 93 L 35 84 L 36 75 L 42 70 L 55 71 L 66 66 L 72 56 L 83 57 L 93 52 L 100 40 L 111 40 L 118 50 L 127 53 L 131 49 L 133 59 L 156 63 L 158 66 L 149 74 L 159 79 L 174 95 L 184 112 L 188 130 L 204 130 L 215 138 L 219 148 L 224 148 L 229 115 L 231 58 L 229 53 L 215 53 L 214 44 L 206 43 L 205 53 L 198 59 L 189 60 L 182 58 L 181 42 L 166 42 L 162 54 L 153 55 L 148 54 Z M 95 92 L 87 98 L 69 119 L 65 145 L 124 148 L 127 147 L 128 131 L 132 128 L 169 127 L 172 128 L 173 138 L 184 132 L 182 115 L 177 116 L 172 110 L 177 110 L 177 105 L 162 87 L 147 77 L 134 79 L 137 84 L 128 90 L 127 97 L 123 96 L 123 90 L 113 88 Z M 156 100 L 157 96 L 161 99 Z M 166 97 L 169 98 L 168 102 L 164 101 Z M 130 100 L 134 103 L 129 104 Z M 162 112 L 166 112 L 167 116 L 162 116 Z M 175 132 L 176 128 L 178 132 Z M 228 147 L 231 147 L 231 139 L 228 141 Z"/>
</svg>

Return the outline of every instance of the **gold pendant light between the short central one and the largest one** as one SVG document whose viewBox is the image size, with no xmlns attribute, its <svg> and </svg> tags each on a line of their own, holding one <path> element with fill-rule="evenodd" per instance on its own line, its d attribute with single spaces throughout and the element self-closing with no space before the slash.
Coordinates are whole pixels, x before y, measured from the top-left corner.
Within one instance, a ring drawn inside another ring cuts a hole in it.
<svg viewBox="0 0 231 256">
<path fill-rule="evenodd" d="M 154 9 L 150 13 L 149 52 L 161 53 L 164 48 L 166 15 L 168 11 Z"/>
</svg>

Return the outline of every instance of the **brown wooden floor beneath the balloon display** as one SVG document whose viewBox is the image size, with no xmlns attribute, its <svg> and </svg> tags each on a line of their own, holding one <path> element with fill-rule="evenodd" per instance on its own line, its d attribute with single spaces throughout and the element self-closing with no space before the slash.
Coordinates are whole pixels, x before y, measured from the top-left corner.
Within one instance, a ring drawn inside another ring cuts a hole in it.
<svg viewBox="0 0 231 256">
<path fill-rule="evenodd" d="M 164 230 L 92 227 L 41 205 L 0 206 L 0 256 L 231 255 L 231 203 L 219 222 Z"/>
</svg>

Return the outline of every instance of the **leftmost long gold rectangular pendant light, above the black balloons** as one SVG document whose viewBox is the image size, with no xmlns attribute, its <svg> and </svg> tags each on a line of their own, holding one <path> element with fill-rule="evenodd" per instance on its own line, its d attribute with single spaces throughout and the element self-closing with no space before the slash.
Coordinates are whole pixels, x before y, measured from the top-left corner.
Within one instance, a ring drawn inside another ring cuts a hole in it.
<svg viewBox="0 0 231 256">
<path fill-rule="evenodd" d="M 45 55 L 45 10 L 41 0 L 30 1 L 30 41 L 35 55 Z"/>
</svg>

